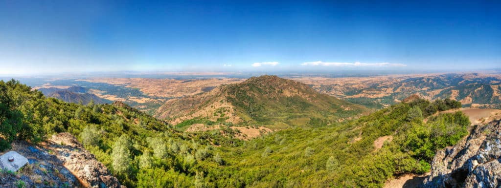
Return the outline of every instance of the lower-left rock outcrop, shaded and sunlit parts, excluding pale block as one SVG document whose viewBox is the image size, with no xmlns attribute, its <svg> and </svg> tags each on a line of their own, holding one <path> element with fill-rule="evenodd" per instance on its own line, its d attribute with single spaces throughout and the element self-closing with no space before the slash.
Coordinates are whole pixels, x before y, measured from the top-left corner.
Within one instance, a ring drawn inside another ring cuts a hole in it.
<svg viewBox="0 0 501 188">
<path fill-rule="evenodd" d="M 16 174 L 0 172 L 0 187 L 125 188 L 70 133 L 54 135 L 40 146 L 15 141 L 12 150 L 27 157 L 29 164 Z"/>
</svg>

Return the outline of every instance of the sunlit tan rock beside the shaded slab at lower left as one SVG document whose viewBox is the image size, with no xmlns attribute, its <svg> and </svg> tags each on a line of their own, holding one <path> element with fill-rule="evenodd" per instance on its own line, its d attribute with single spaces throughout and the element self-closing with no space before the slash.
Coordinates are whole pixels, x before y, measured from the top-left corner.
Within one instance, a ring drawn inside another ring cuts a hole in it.
<svg viewBox="0 0 501 188">
<path fill-rule="evenodd" d="M 125 188 L 111 175 L 108 168 L 97 161 L 95 156 L 85 150 L 77 138 L 63 132 L 48 139 L 48 147 L 58 152 L 57 157 L 86 187 Z"/>
</svg>

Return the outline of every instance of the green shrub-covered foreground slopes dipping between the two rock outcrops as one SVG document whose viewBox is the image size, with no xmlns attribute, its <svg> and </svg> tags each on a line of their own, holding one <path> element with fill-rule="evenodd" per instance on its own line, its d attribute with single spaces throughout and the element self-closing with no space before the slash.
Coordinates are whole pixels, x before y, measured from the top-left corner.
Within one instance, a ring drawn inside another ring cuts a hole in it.
<svg viewBox="0 0 501 188">
<path fill-rule="evenodd" d="M 271 102 L 276 95 L 249 96 Z M 181 132 L 122 102 L 67 103 L 11 80 L 0 81 L 0 141 L 6 149 L 15 139 L 36 143 L 68 131 L 128 187 L 381 187 L 392 175 L 428 171 L 437 149 L 466 135 L 469 120 L 460 112 L 422 121 L 458 106 L 414 98 L 358 119 L 242 141 L 223 136 L 230 129 Z M 381 136 L 393 139 L 376 148 Z"/>
</svg>

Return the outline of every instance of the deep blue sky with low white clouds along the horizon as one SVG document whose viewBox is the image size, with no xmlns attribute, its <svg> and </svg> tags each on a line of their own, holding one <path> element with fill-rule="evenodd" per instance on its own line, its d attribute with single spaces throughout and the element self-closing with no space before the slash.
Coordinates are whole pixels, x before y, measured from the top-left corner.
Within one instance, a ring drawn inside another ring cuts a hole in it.
<svg viewBox="0 0 501 188">
<path fill-rule="evenodd" d="M 0 74 L 501 67 L 501 3 L 0 0 Z"/>
</svg>

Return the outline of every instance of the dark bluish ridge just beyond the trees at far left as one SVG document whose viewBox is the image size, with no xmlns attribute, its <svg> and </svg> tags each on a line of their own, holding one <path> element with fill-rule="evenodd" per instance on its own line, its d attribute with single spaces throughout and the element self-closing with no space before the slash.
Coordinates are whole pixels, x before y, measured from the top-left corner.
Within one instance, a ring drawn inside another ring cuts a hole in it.
<svg viewBox="0 0 501 188">
<path fill-rule="evenodd" d="M 110 100 L 100 98 L 92 93 L 87 93 L 85 87 L 81 86 L 72 86 L 66 89 L 49 87 L 49 88 L 39 88 L 38 90 L 42 91 L 42 93 L 44 93 L 44 95 L 48 97 L 58 98 L 66 102 L 73 102 L 73 103 L 82 102 L 82 104 L 87 104 L 91 100 L 94 100 L 94 103 L 98 104 L 111 103 Z"/>
</svg>

